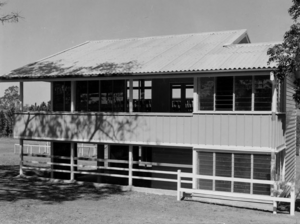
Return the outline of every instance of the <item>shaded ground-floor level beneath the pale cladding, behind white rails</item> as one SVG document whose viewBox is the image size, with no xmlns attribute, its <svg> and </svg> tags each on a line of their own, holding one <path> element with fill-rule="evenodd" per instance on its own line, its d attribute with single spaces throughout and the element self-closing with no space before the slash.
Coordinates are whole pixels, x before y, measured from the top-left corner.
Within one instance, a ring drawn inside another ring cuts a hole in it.
<svg viewBox="0 0 300 224">
<path fill-rule="evenodd" d="M 23 144 L 25 175 L 39 170 L 39 175 L 54 179 L 153 189 L 176 190 L 177 171 L 181 170 L 209 177 L 183 178 L 184 188 L 271 195 L 273 186 L 269 184 L 218 180 L 218 177 L 273 180 L 282 175 L 284 166 L 282 153 L 274 160 L 271 154 L 243 151 L 51 142 L 49 153 L 39 154 L 32 148 L 26 151 L 26 141 Z"/>
</svg>

